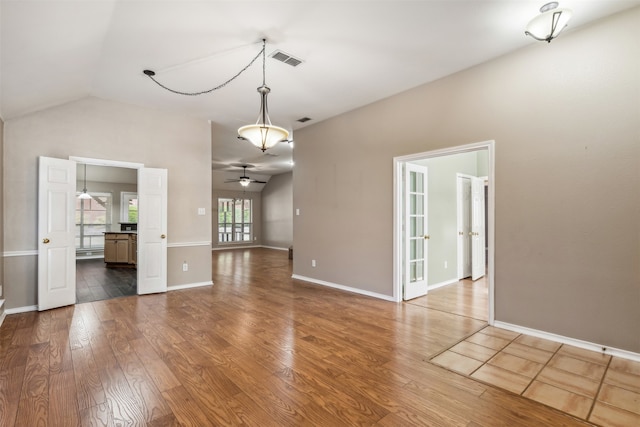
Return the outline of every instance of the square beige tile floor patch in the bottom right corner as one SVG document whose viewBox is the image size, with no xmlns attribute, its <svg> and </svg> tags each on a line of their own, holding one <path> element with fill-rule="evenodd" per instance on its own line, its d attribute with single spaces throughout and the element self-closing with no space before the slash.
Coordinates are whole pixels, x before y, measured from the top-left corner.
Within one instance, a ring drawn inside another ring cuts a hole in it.
<svg viewBox="0 0 640 427">
<path fill-rule="evenodd" d="M 432 363 L 601 426 L 640 426 L 640 362 L 487 326 Z"/>
</svg>

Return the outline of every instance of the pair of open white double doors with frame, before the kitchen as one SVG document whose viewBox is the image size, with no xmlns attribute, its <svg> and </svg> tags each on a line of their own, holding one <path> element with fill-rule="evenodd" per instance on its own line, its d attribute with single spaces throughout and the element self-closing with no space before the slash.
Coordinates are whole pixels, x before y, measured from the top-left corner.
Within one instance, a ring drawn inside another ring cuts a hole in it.
<svg viewBox="0 0 640 427">
<path fill-rule="evenodd" d="M 39 157 L 38 310 L 76 302 L 76 163 L 137 170 L 137 294 L 167 291 L 167 170 L 143 164 L 69 157 Z"/>
</svg>

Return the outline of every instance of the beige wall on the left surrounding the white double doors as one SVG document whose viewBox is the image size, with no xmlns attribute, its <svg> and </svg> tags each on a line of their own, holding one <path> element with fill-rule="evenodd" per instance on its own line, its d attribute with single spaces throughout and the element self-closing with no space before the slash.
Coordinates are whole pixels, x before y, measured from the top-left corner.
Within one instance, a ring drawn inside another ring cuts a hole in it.
<svg viewBox="0 0 640 427">
<path fill-rule="evenodd" d="M 7 308 L 37 304 L 37 158 L 69 156 L 168 169 L 168 285 L 211 281 L 211 139 L 209 124 L 155 110 L 85 98 L 5 123 L 5 274 Z M 206 215 L 197 215 L 204 207 Z M 26 251 L 28 254 L 20 255 Z M 202 263 L 203 255 L 209 262 Z M 17 256 L 14 256 L 17 255 Z M 191 259 L 194 261 L 191 262 Z M 187 259 L 185 259 L 187 258 Z M 181 273 L 181 271 L 180 271 Z M 185 273 L 185 277 L 187 274 Z M 172 280 L 174 282 L 172 282 Z"/>
</svg>

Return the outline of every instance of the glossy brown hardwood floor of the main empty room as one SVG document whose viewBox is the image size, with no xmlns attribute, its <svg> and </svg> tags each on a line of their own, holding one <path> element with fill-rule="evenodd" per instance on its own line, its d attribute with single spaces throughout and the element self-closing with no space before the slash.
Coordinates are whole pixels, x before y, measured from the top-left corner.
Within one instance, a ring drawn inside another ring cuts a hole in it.
<svg viewBox="0 0 640 427">
<path fill-rule="evenodd" d="M 213 287 L 7 316 L 0 426 L 573 426 L 429 359 L 486 322 L 214 252 Z"/>
</svg>

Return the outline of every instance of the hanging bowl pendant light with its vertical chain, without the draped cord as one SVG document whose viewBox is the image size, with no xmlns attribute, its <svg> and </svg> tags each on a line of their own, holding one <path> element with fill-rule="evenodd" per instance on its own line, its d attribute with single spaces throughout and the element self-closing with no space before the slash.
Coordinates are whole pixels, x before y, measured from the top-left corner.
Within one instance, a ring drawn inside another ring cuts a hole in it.
<svg viewBox="0 0 640 427">
<path fill-rule="evenodd" d="M 279 142 L 287 141 L 289 138 L 289 132 L 284 128 L 272 125 L 269 118 L 267 95 L 271 92 L 271 89 L 267 87 L 265 78 L 265 42 L 266 40 L 262 39 L 262 86 L 257 89 L 260 94 L 258 121 L 253 125 L 242 126 L 238 129 L 238 138 L 249 141 L 262 151 L 268 150 Z"/>
</svg>

